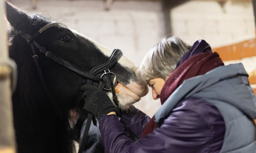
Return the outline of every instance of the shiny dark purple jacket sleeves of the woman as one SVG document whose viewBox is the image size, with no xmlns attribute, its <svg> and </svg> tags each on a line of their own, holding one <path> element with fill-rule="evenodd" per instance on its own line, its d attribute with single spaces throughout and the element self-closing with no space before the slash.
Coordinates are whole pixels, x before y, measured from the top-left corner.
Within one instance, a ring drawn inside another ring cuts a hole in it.
<svg viewBox="0 0 256 153">
<path fill-rule="evenodd" d="M 149 118 L 137 111 L 124 114 L 121 121 L 138 137 Z M 218 109 L 198 98 L 179 102 L 159 128 L 133 142 L 116 115 L 101 118 L 99 129 L 107 153 L 196 153 L 219 152 L 225 133 L 225 123 Z"/>
</svg>

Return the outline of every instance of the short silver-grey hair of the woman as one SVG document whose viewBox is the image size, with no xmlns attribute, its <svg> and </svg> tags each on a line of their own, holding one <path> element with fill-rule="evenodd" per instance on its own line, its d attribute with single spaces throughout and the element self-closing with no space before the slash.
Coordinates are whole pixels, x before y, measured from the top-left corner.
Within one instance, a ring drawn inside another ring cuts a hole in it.
<svg viewBox="0 0 256 153">
<path fill-rule="evenodd" d="M 138 69 L 140 82 L 148 83 L 150 79 L 165 80 L 176 68 L 181 57 L 191 48 L 177 36 L 164 37 L 155 44 L 142 60 Z"/>
</svg>

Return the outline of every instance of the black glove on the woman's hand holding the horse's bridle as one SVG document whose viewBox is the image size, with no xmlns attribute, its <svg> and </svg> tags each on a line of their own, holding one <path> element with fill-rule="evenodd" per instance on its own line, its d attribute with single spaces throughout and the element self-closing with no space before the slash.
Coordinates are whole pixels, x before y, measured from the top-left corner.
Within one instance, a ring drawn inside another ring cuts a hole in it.
<svg viewBox="0 0 256 153">
<path fill-rule="evenodd" d="M 118 114 L 118 109 L 102 89 L 86 84 L 82 85 L 81 90 L 85 90 L 82 96 L 85 103 L 84 109 L 94 115 L 98 121 L 110 112 Z"/>
</svg>

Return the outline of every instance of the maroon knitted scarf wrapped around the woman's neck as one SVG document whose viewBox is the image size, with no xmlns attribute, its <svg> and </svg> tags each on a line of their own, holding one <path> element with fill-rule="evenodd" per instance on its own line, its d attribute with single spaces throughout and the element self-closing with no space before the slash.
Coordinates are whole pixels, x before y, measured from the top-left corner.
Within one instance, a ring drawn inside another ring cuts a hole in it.
<svg viewBox="0 0 256 153">
<path fill-rule="evenodd" d="M 166 101 L 184 80 L 197 75 L 203 75 L 221 65 L 224 65 L 224 63 L 217 52 L 203 52 L 185 60 L 166 80 L 160 94 L 161 104 Z M 141 138 L 152 133 L 156 127 L 157 123 L 154 122 L 154 117 L 152 117 L 146 125 Z"/>
</svg>

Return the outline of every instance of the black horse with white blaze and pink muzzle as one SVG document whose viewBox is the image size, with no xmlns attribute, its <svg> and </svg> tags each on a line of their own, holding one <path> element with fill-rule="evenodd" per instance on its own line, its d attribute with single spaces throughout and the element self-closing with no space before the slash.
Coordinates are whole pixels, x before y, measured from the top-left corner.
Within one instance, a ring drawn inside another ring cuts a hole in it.
<svg viewBox="0 0 256 153">
<path fill-rule="evenodd" d="M 111 50 L 53 18 L 22 11 L 10 2 L 6 2 L 6 17 L 10 23 L 9 55 L 16 62 L 18 71 L 17 87 L 12 96 L 17 151 L 74 152 L 74 124 L 70 112 L 80 116 L 84 112 L 86 118 L 88 112 L 83 109 L 80 87 L 88 80 L 93 81 L 93 85 L 100 82 L 68 69 L 42 50 L 86 74 L 108 61 Z M 38 35 L 31 37 L 35 34 Z M 25 36 L 30 36 L 41 49 L 32 45 L 33 49 Z M 136 69 L 137 66 L 125 56 L 109 69 L 117 77 L 115 93 L 119 108 L 123 110 L 148 93 L 148 87 L 138 82 Z M 103 75 L 101 72 L 96 77 Z M 111 82 L 106 77 L 102 80 L 106 84 Z M 106 92 L 111 97 L 111 92 Z"/>
</svg>

